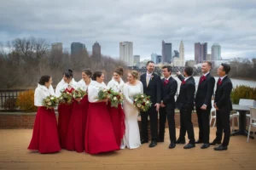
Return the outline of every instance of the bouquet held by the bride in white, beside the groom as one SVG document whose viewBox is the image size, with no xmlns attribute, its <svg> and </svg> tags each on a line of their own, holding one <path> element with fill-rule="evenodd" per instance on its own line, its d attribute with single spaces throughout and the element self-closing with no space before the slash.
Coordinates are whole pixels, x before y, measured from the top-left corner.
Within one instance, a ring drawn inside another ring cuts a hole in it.
<svg viewBox="0 0 256 170">
<path fill-rule="evenodd" d="M 150 97 L 146 94 L 136 94 L 134 96 L 133 105 L 137 108 L 137 111 L 148 111 L 152 103 Z"/>
</svg>

